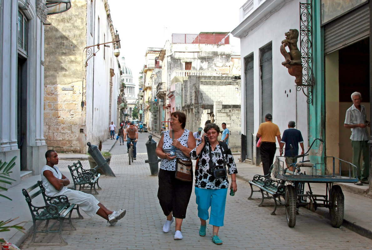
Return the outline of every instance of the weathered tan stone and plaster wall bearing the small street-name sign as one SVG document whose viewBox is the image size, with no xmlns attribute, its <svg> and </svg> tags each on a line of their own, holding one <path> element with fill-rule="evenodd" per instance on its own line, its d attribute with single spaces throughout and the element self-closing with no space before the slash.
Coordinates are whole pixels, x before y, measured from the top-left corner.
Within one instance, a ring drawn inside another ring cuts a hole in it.
<svg viewBox="0 0 372 250">
<path fill-rule="evenodd" d="M 85 0 L 74 0 L 69 11 L 48 16 L 51 25 L 45 26 L 44 135 L 57 152 L 85 152 L 86 11 Z"/>
</svg>

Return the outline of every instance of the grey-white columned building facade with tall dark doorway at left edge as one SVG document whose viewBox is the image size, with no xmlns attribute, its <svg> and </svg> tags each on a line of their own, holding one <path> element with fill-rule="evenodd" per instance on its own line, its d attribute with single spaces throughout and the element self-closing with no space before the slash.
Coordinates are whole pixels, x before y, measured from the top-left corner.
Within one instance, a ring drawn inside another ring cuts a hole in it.
<svg viewBox="0 0 372 250">
<path fill-rule="evenodd" d="M 70 7 L 70 6 L 69 6 Z M 0 159 L 16 158 L 10 178 L 20 183 L 45 165 L 45 0 L 0 0 Z M 9 185 L 6 185 L 9 187 Z"/>
</svg>

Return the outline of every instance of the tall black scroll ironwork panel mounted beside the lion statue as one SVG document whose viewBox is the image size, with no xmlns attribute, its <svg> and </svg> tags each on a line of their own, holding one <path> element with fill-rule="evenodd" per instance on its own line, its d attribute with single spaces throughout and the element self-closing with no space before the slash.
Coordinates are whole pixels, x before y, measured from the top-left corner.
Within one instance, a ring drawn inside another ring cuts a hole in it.
<svg viewBox="0 0 372 250">
<path fill-rule="evenodd" d="M 307 103 L 312 104 L 312 88 L 315 85 L 312 72 L 312 4 L 300 3 L 300 52 L 302 62 L 302 84 L 297 84 L 297 91 L 307 96 Z"/>
</svg>

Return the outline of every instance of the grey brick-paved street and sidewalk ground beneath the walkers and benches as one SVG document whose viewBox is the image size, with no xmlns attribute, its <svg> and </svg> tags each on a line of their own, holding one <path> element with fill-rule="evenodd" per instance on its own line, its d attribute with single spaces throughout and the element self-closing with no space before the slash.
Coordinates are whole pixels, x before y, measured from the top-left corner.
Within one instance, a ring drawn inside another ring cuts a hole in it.
<svg viewBox="0 0 372 250">
<path fill-rule="evenodd" d="M 59 246 L 60 240 L 54 233 L 38 233 L 37 244 L 29 244 L 31 236 L 21 245 L 23 240 L 18 236 L 7 238 L 10 242 L 19 244 L 23 250 L 49 250 L 49 249 L 368 249 L 372 247 L 372 240 L 362 237 L 341 226 L 333 228 L 330 221 L 319 214 L 301 208 L 297 217 L 296 226 L 289 228 L 286 224 L 285 210 L 279 207 L 277 215 L 271 216 L 272 201 L 265 201 L 266 206 L 257 207 L 259 197 L 247 200 L 250 187 L 244 180 L 248 174 L 259 172 L 261 169 L 250 167 L 248 164 L 238 163 L 240 179 L 237 180 L 238 191 L 234 197 L 228 195 L 225 213 L 225 226 L 220 228 L 219 236 L 223 240 L 222 246 L 212 243 L 212 226 L 207 225 L 206 237 L 198 235 L 200 221 L 198 218 L 195 194 L 192 193 L 186 219 L 183 221 L 183 240 L 175 241 L 174 223 L 169 233 L 163 233 L 162 227 L 165 216 L 157 199 L 158 180 L 150 175 L 150 168 L 144 161 L 147 159 L 145 142 L 148 133 L 140 134 L 137 144 L 137 160 L 128 165 L 126 146 L 118 142 L 113 145 L 113 154 L 110 167 L 116 177 L 102 176 L 100 178 L 99 194 L 96 198 L 109 209 L 127 210 L 126 216 L 111 227 L 99 216 L 89 218 L 82 213 L 84 220 L 73 220 L 77 230 L 71 230 L 68 223 L 64 223 L 62 235 L 69 243 L 68 246 Z M 155 141 L 158 139 L 155 138 Z M 238 157 L 236 157 L 238 158 Z M 237 159 L 235 159 L 237 161 Z M 67 165 L 71 161 L 60 161 L 58 167 L 67 177 L 70 177 Z M 87 161 L 82 162 L 88 167 Z M 261 170 L 262 171 L 262 170 Z M 30 180 L 28 180 L 30 179 Z M 18 186 L 29 187 L 39 176 L 30 177 Z M 32 179 L 32 180 L 31 180 Z M 33 180 L 35 179 L 35 180 Z M 10 188 L 9 196 L 13 201 L 0 199 L 0 220 L 22 216 L 19 221 L 28 221 L 30 226 L 31 215 L 27 204 L 21 194 L 22 187 Z M 345 192 L 344 192 L 345 193 Z M 14 196 L 13 196 L 14 195 Z M 349 198 L 345 193 L 345 201 Z M 357 195 L 359 198 L 360 195 Z M 355 204 L 355 203 L 354 203 Z M 6 209 L 4 209 L 6 208 Z M 349 207 L 350 208 L 350 207 Z M 3 214 L 3 211 L 5 213 Z M 347 207 L 345 208 L 346 216 Z M 354 210 L 355 217 L 370 215 L 371 208 L 364 211 Z M 370 217 L 370 216 L 369 216 Z M 365 218 L 362 218 L 362 220 Z M 18 221 L 17 220 L 17 221 Z M 26 226 L 25 226 L 26 227 Z M 1 234 L 0 237 L 2 237 Z M 4 236 L 5 237 L 5 236 Z"/>
</svg>

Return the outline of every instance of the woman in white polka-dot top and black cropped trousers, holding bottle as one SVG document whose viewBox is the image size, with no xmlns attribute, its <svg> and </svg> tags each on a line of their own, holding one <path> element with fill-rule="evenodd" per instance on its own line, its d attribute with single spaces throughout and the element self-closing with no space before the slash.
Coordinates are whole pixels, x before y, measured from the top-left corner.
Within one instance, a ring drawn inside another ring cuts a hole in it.
<svg viewBox="0 0 372 250">
<path fill-rule="evenodd" d="M 192 181 L 176 179 L 176 157 L 190 160 L 190 151 L 195 148 L 196 144 L 192 132 L 185 129 L 186 115 L 183 112 L 173 112 L 170 117 L 172 129 L 164 131 L 156 148 L 156 155 L 161 158 L 158 175 L 158 199 L 161 209 L 167 217 L 163 232 L 169 232 L 174 216 L 176 218 L 174 240 L 181 240 L 183 238 L 181 225 L 183 219 L 186 218 L 187 205 L 192 192 Z M 174 132 L 174 139 L 172 139 L 172 132 Z M 176 155 L 173 157 L 170 156 L 172 146 L 176 147 Z"/>
</svg>

